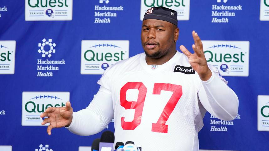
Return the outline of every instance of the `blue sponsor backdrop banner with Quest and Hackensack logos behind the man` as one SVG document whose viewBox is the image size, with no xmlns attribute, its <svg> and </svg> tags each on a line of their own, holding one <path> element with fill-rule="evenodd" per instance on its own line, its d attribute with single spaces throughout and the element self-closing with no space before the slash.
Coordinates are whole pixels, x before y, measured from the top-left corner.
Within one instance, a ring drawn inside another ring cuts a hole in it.
<svg viewBox="0 0 269 151">
<path fill-rule="evenodd" d="M 195 30 L 239 98 L 235 120 L 205 115 L 199 148 L 269 150 L 269 0 L 1 0 L 0 150 L 88 150 L 102 132 L 49 136 L 39 116 L 66 101 L 86 108 L 109 66 L 143 52 L 141 20 L 157 6 L 177 11 L 177 49 L 192 49 Z"/>
</svg>

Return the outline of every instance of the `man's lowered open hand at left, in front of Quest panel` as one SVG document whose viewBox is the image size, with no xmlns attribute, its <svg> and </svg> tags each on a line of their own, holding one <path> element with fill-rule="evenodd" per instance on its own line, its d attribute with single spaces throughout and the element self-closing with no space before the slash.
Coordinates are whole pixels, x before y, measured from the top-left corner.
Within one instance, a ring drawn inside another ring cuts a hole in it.
<svg viewBox="0 0 269 151">
<path fill-rule="evenodd" d="M 61 128 L 64 126 L 67 127 L 71 124 L 73 118 L 73 108 L 71 107 L 71 103 L 68 101 L 66 102 L 66 107 L 47 108 L 46 111 L 40 115 L 41 118 L 45 116 L 48 118 L 45 118 L 41 124 L 45 125 L 46 123 L 50 123 L 47 128 L 47 133 L 51 135 L 52 128 Z"/>
</svg>

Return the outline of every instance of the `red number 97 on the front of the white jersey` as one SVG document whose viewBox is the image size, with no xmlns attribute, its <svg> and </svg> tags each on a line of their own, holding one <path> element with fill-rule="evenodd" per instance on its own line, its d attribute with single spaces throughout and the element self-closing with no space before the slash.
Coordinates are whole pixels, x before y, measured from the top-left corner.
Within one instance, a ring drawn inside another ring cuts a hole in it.
<svg viewBox="0 0 269 151">
<path fill-rule="evenodd" d="M 126 100 L 126 92 L 128 89 L 138 89 L 139 93 L 136 102 L 129 102 Z M 165 123 L 182 96 L 182 86 L 170 83 L 155 83 L 152 94 L 161 95 L 161 90 L 171 91 L 173 92 L 173 94 L 167 102 L 166 106 L 164 107 L 157 123 L 152 123 L 151 131 L 167 133 L 168 125 L 166 125 Z M 134 130 L 138 125 L 140 125 L 146 93 L 147 88 L 142 82 L 128 82 L 120 89 L 120 105 L 125 109 L 135 109 L 134 119 L 132 122 L 125 122 L 124 117 L 121 118 L 121 127 L 124 130 Z"/>
</svg>

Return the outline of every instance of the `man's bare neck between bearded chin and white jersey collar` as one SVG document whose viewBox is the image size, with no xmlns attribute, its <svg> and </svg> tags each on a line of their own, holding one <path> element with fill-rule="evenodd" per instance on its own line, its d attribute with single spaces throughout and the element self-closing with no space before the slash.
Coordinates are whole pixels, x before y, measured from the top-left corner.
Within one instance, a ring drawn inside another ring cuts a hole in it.
<svg viewBox="0 0 269 151">
<path fill-rule="evenodd" d="M 166 55 L 162 56 L 161 58 L 153 59 L 148 56 L 146 56 L 146 62 L 148 65 L 162 65 L 169 61 L 171 58 L 174 57 L 174 55 L 177 53 L 177 50 L 173 50 Z"/>
</svg>

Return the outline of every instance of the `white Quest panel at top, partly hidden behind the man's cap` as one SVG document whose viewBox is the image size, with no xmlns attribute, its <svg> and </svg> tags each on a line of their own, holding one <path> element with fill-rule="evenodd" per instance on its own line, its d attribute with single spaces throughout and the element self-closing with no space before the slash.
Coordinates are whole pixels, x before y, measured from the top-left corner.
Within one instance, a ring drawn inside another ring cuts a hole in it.
<svg viewBox="0 0 269 151">
<path fill-rule="evenodd" d="M 190 18 L 190 0 L 141 0 L 140 20 L 143 20 L 149 8 L 160 6 L 177 11 L 177 20 L 189 20 Z"/>
</svg>

